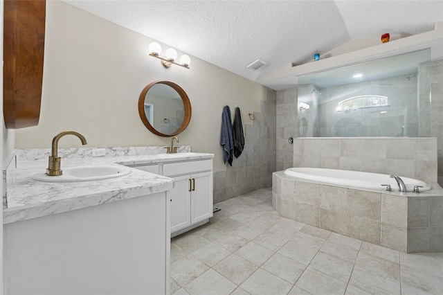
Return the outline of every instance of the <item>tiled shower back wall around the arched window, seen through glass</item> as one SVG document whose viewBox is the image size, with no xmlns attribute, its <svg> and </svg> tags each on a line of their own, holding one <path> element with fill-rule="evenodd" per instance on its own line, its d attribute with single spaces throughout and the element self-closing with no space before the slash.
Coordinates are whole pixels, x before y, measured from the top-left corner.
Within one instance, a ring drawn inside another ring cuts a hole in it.
<svg viewBox="0 0 443 295">
<path fill-rule="evenodd" d="M 420 72 L 420 77 L 428 75 Z M 429 82 L 426 81 L 426 85 Z M 427 88 L 427 87 L 424 87 Z M 419 136 L 417 111 L 417 75 L 357 82 L 320 89 L 318 137 L 334 136 Z M 312 94 L 314 94 L 311 91 Z M 360 95 L 387 96 L 388 107 L 370 107 L 354 111 L 336 111 L 338 103 Z M 420 100 L 426 101 L 421 96 Z M 381 114 L 380 111 L 388 111 Z M 300 113 L 299 113 L 300 114 Z M 313 114 L 313 113 L 311 113 Z M 352 125 L 352 127 L 350 127 Z"/>
</svg>

